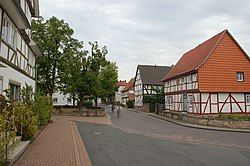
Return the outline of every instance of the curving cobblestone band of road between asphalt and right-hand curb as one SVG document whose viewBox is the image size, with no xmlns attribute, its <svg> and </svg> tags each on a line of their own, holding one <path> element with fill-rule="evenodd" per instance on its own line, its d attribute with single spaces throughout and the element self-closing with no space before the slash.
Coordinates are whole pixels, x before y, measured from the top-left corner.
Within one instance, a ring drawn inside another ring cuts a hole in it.
<svg viewBox="0 0 250 166">
<path fill-rule="evenodd" d="M 106 107 L 106 110 L 108 110 L 114 126 L 127 132 L 156 138 L 250 150 L 250 133 L 212 131 L 180 126 L 143 113 L 128 111 L 126 108 L 123 109 L 121 118 L 117 118 L 114 113 L 110 113 L 109 107 Z"/>
</svg>

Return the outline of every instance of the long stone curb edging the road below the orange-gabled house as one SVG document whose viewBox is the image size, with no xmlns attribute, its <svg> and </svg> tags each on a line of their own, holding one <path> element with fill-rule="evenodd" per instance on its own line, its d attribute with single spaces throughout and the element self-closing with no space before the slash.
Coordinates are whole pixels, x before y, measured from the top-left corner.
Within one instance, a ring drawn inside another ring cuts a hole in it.
<svg viewBox="0 0 250 166">
<path fill-rule="evenodd" d="M 185 127 L 191 127 L 191 128 L 196 128 L 196 129 L 204 129 L 204 130 L 214 130 L 214 131 L 226 131 L 226 132 L 241 132 L 241 133 L 250 133 L 250 129 L 233 129 L 233 128 L 225 128 L 225 127 L 214 127 L 214 126 L 202 126 L 198 124 L 192 124 L 192 123 L 186 123 L 186 122 L 181 122 L 178 120 L 170 119 L 167 117 L 163 117 L 160 115 L 154 115 L 154 114 L 148 114 L 145 112 L 137 111 L 135 109 L 128 109 L 128 111 L 136 112 L 136 113 L 142 113 L 150 117 L 158 118 L 167 122 L 171 122 L 180 126 L 185 126 Z"/>
</svg>

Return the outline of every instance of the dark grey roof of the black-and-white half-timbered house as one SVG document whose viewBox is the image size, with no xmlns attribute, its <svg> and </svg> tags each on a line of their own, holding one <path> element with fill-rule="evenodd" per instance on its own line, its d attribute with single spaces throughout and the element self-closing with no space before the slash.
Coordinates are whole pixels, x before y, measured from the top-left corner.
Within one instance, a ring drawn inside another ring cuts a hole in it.
<svg viewBox="0 0 250 166">
<path fill-rule="evenodd" d="M 148 85 L 163 85 L 161 79 L 171 70 L 169 66 L 138 65 L 141 81 Z"/>
</svg>

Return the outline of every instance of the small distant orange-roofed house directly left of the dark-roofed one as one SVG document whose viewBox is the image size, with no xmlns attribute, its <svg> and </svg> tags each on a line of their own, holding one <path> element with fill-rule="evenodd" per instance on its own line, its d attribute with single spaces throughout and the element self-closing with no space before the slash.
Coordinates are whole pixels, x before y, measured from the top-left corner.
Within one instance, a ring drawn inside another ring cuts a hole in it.
<svg viewBox="0 0 250 166">
<path fill-rule="evenodd" d="M 134 87 L 135 78 L 131 78 L 127 83 L 125 88 L 122 90 L 122 104 L 126 105 L 126 102 L 135 100 L 135 87 Z"/>
</svg>

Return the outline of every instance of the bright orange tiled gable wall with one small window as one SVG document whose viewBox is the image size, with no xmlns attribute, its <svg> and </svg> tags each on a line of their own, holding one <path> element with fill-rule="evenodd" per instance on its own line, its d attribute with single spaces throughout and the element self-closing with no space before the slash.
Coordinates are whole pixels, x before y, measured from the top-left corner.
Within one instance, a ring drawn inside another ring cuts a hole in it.
<svg viewBox="0 0 250 166">
<path fill-rule="evenodd" d="M 239 82 L 237 72 L 244 73 Z M 232 35 L 227 32 L 213 53 L 198 69 L 200 92 L 249 92 L 250 60 Z"/>
</svg>

